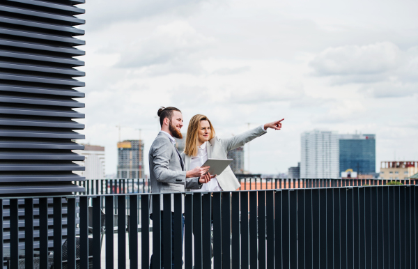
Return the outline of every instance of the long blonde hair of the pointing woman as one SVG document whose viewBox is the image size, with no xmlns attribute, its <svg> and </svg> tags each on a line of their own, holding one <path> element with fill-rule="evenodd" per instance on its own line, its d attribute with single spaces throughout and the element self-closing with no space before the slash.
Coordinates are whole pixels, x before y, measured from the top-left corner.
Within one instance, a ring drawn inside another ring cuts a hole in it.
<svg viewBox="0 0 418 269">
<path fill-rule="evenodd" d="M 185 145 L 185 154 L 189 156 L 196 156 L 199 148 L 199 137 L 198 132 L 200 128 L 201 121 L 208 121 L 210 125 L 210 134 L 209 140 L 215 137 L 215 129 L 213 129 L 212 123 L 210 123 L 209 118 L 205 115 L 197 114 L 192 116 L 189 122 L 189 127 L 187 128 L 186 136 L 186 145 Z"/>
</svg>

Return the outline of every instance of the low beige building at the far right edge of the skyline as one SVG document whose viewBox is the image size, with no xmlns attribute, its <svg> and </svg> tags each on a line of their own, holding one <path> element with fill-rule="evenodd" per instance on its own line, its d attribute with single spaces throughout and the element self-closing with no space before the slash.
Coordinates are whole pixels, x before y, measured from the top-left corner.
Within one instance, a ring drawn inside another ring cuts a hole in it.
<svg viewBox="0 0 418 269">
<path fill-rule="evenodd" d="M 418 162 L 380 162 L 380 178 L 407 179 L 418 173 Z"/>
</svg>

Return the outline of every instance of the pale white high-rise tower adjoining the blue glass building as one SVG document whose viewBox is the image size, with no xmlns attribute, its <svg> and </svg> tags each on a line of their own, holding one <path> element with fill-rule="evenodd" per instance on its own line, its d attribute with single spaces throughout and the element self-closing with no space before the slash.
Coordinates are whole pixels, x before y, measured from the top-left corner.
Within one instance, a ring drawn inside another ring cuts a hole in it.
<svg viewBox="0 0 418 269">
<path fill-rule="evenodd" d="M 302 133 L 300 177 L 339 178 L 337 132 L 314 130 Z"/>
</svg>

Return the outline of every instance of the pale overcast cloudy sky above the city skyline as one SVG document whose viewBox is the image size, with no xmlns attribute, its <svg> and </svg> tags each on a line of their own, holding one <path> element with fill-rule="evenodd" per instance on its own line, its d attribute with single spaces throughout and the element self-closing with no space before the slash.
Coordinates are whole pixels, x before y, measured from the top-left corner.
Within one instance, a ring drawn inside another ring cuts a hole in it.
<svg viewBox="0 0 418 269">
<path fill-rule="evenodd" d="M 251 141 L 245 168 L 287 173 L 300 134 L 376 134 L 380 161 L 418 160 L 416 0 L 88 0 L 80 28 L 86 139 L 115 174 L 121 139 L 160 130 L 159 107 L 205 114 L 219 137 L 285 118 Z M 121 126 L 119 134 L 117 125 Z M 141 129 L 141 131 L 139 131 Z"/>
</svg>

